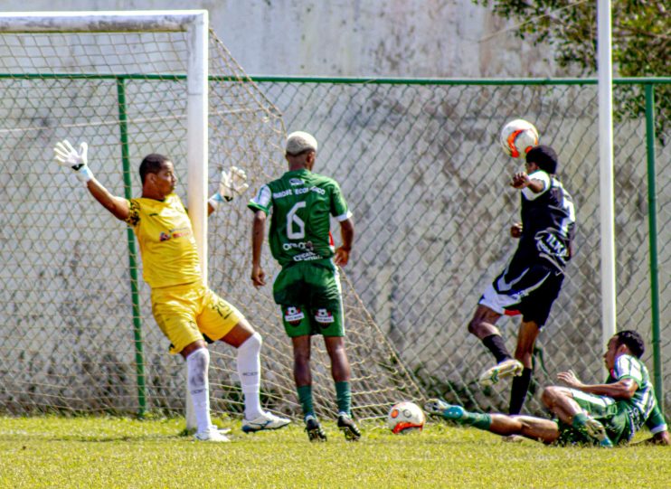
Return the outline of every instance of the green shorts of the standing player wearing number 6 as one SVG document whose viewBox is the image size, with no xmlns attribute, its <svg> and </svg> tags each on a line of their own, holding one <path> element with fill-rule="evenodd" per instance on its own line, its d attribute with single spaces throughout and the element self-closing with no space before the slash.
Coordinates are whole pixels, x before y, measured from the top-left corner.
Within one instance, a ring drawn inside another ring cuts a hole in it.
<svg viewBox="0 0 671 489">
<path fill-rule="evenodd" d="M 272 287 L 288 336 L 345 336 L 340 276 L 329 260 L 298 262 L 282 268 Z"/>
</svg>

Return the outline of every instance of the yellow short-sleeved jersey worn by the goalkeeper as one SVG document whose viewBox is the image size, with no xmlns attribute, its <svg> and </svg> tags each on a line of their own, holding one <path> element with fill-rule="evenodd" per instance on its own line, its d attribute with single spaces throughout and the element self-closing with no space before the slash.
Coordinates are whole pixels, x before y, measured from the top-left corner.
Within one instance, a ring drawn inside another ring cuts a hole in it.
<svg viewBox="0 0 671 489">
<path fill-rule="evenodd" d="M 175 193 L 165 201 L 131 199 L 126 222 L 137 236 L 143 277 L 149 287 L 171 287 L 201 279 L 194 231 Z"/>
</svg>

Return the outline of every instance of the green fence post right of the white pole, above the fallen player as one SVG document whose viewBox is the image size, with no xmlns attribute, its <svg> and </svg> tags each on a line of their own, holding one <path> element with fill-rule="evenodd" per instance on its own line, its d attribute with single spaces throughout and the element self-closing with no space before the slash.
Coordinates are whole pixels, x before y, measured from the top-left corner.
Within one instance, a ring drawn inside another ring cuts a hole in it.
<svg viewBox="0 0 671 489">
<path fill-rule="evenodd" d="M 652 305 L 652 355 L 657 404 L 664 412 L 662 353 L 659 334 L 659 280 L 657 264 L 657 190 L 655 188 L 655 85 L 645 84 L 647 146 L 647 222 L 650 230 L 650 302 Z"/>
</svg>

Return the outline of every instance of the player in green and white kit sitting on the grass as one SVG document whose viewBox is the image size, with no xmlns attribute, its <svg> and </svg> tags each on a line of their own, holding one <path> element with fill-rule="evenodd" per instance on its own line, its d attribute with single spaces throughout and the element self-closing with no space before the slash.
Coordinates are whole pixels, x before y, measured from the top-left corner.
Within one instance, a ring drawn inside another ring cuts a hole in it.
<svg viewBox="0 0 671 489">
<path fill-rule="evenodd" d="M 560 373 L 559 380 L 568 387 L 547 387 L 542 398 L 556 420 L 473 413 L 444 400 L 429 400 L 424 409 L 496 435 L 521 435 L 560 445 L 591 443 L 613 447 L 627 443 L 645 424 L 653 435 L 649 442 L 669 445 L 664 415 L 657 407 L 647 368 L 640 361 L 644 348 L 638 333 L 620 331 L 610 338 L 603 355 L 610 372 L 606 383 L 588 385 L 572 371 Z"/>
</svg>

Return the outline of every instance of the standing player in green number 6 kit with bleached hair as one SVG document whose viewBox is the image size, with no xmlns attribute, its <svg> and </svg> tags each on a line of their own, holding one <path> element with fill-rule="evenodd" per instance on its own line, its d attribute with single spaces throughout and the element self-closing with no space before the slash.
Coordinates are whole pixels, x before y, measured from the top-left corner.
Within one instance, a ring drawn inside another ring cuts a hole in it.
<svg viewBox="0 0 671 489">
<path fill-rule="evenodd" d="M 269 243 L 282 267 L 273 283 L 275 302 L 281 307 L 284 328 L 294 350 L 294 381 L 310 441 L 326 441 L 312 403 L 310 339 L 324 336 L 336 382 L 338 428 L 348 440 L 361 437 L 352 420 L 350 366 L 345 353 L 345 316 L 337 266 L 344 267 L 354 240 L 352 213 L 332 178 L 312 173 L 317 140 L 302 131 L 287 138 L 288 172 L 263 185 L 248 207 L 254 212 L 251 281 L 266 284 L 261 248 L 266 218 Z M 343 244 L 335 249 L 330 218 L 340 223 Z"/>
</svg>

